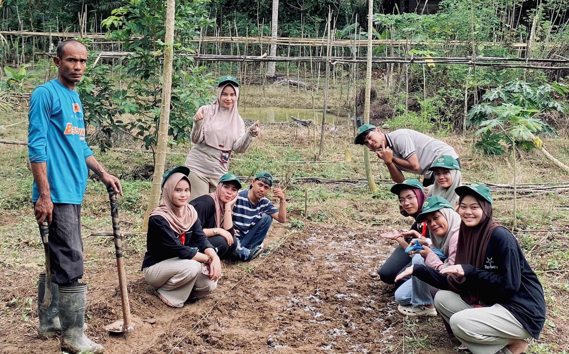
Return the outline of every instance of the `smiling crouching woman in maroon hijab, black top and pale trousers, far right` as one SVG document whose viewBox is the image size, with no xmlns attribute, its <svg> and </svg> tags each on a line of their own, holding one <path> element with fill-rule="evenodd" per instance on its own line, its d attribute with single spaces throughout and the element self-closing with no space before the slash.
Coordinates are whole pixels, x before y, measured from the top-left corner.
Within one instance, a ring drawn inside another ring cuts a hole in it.
<svg viewBox="0 0 569 354">
<path fill-rule="evenodd" d="M 492 219 L 488 187 L 456 188 L 461 218 L 455 264 L 413 265 L 414 277 L 440 289 L 436 310 L 474 354 L 521 354 L 545 323 L 543 289 L 514 236 Z"/>
</svg>

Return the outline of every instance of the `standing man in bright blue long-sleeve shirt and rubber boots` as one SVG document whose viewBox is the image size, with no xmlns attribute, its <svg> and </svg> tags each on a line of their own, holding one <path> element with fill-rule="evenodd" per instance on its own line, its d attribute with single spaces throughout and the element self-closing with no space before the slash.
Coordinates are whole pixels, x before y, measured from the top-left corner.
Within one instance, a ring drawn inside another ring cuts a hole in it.
<svg viewBox="0 0 569 354">
<path fill-rule="evenodd" d="M 38 282 L 39 329 L 42 336 L 61 331 L 61 349 L 73 353 L 103 347 L 84 334 L 86 285 L 83 277 L 81 202 L 88 169 L 122 195 L 117 177 L 107 173 L 95 160 L 85 141 L 83 106 L 75 85 L 83 77 L 87 49 L 77 40 L 57 45 L 53 62 L 57 78 L 35 88 L 30 99 L 28 153 L 34 188 L 32 202 L 38 223 L 50 224 L 52 303 L 40 309 L 46 286 L 45 274 Z"/>
</svg>

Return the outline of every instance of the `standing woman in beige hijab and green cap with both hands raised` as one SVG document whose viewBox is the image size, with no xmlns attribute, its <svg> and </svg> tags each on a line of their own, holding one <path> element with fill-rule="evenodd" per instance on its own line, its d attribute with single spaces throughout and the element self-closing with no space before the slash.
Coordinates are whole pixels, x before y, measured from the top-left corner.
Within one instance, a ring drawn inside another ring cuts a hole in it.
<svg viewBox="0 0 569 354">
<path fill-rule="evenodd" d="M 229 171 L 231 152 L 244 153 L 261 129 L 259 122 L 245 131 L 237 101 L 239 83 L 233 76 L 220 78 L 217 97 L 211 105 L 201 106 L 193 117 L 191 140 L 194 144 L 185 160 L 191 170 L 192 197 L 212 193 L 219 178 Z"/>
</svg>

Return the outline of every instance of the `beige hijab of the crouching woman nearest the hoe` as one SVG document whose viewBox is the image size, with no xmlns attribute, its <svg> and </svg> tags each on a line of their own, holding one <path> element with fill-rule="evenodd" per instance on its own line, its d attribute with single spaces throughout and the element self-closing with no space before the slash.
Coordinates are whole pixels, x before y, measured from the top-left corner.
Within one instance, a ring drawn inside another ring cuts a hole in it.
<svg viewBox="0 0 569 354">
<path fill-rule="evenodd" d="M 186 204 L 182 207 L 178 207 L 174 204 L 174 198 L 172 197 L 174 195 L 174 189 L 180 180 L 188 181 L 188 184 L 190 184 L 189 188 L 190 190 L 192 189 L 188 176 L 179 172 L 172 173 L 162 188 L 162 200 L 160 204 L 150 213 L 150 216 L 160 215 L 166 219 L 172 231 L 176 232 L 177 235 L 185 234 L 197 220 L 197 211 L 193 206 Z"/>
</svg>

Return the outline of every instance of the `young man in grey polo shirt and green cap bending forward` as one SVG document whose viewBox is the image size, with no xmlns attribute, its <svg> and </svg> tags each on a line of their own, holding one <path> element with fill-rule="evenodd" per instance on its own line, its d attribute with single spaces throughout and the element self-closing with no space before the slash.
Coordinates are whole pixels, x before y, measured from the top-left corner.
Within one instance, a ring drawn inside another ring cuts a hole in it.
<svg viewBox="0 0 569 354">
<path fill-rule="evenodd" d="M 423 174 L 423 186 L 432 185 L 434 180 L 428 168 L 442 155 L 454 157 L 460 165 L 459 156 L 451 145 L 411 129 L 386 134 L 372 124 L 364 124 L 358 128 L 354 144 L 365 144 L 384 160 L 391 179 L 397 183 L 405 181 L 401 171 L 406 171 Z"/>
</svg>

